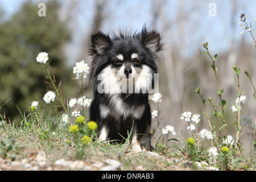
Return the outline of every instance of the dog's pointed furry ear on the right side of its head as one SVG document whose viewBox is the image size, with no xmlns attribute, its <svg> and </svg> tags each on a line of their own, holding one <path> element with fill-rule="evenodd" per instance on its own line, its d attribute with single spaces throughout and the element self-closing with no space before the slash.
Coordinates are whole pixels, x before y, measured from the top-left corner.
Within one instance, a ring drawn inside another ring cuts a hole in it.
<svg viewBox="0 0 256 182">
<path fill-rule="evenodd" d="M 141 31 L 141 43 L 151 52 L 158 52 L 162 50 L 163 43 L 160 34 L 156 30 L 149 30 L 146 25 Z"/>
</svg>

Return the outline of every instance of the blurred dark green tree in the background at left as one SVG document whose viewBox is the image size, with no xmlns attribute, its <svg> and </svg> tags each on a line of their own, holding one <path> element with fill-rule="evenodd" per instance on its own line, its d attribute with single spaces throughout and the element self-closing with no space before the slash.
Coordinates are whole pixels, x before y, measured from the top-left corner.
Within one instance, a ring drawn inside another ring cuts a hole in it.
<svg viewBox="0 0 256 182">
<path fill-rule="evenodd" d="M 19 114 L 15 104 L 21 111 L 28 111 L 34 100 L 43 104 L 42 98 L 50 88 L 43 83 L 46 78 L 40 68 L 44 65 L 36 63 L 39 52 L 49 53 L 51 65 L 57 68 L 56 75 L 61 80 L 72 77 L 63 56 L 63 46 L 71 33 L 67 22 L 60 22 L 58 9 L 56 1 L 49 1 L 46 17 L 39 17 L 38 5 L 27 1 L 10 20 L 0 24 L 0 105 L 14 95 L 1 110 L 7 117 Z"/>
</svg>

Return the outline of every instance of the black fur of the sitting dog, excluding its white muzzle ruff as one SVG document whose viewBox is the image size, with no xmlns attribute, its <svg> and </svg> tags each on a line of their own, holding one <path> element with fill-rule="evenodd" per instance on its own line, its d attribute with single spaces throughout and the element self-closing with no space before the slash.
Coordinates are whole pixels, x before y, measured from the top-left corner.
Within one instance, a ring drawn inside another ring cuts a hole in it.
<svg viewBox="0 0 256 182">
<path fill-rule="evenodd" d="M 133 70 L 138 71 L 138 73 L 143 67 L 150 68 L 148 72 L 152 74 L 157 73 L 158 57 L 156 52 L 162 49 L 161 40 L 158 32 L 148 30 L 146 26 L 142 28 L 140 33 L 133 35 L 125 32 L 125 34 L 120 33 L 110 38 L 108 34 L 101 31 L 92 35 L 92 46 L 89 51 L 92 56 L 90 80 L 94 87 L 94 99 L 90 106 L 90 120 L 98 123 L 99 133 L 104 126 L 108 127 L 109 135 L 107 138 L 124 141 L 123 138 L 127 138 L 127 134 L 134 123 L 135 134 L 137 134 L 136 137 L 141 146 L 147 150 L 151 148 L 151 110 L 148 104 L 148 92 L 143 93 L 140 90 L 139 93 L 99 93 L 98 85 L 101 80 L 98 80 L 98 75 L 104 69 L 119 71 L 122 65 L 133 67 Z M 138 65 L 134 65 L 134 60 L 131 59 L 133 53 L 138 55 Z M 117 60 L 117 55 L 123 56 L 121 65 L 114 62 Z M 105 79 L 108 79 L 108 76 Z M 108 81 L 113 82 L 114 80 L 108 79 Z M 154 83 L 154 77 L 152 77 L 152 83 Z M 154 87 L 154 85 L 151 86 Z M 102 117 L 101 105 L 108 108 L 104 117 Z M 121 113 L 117 106 L 122 107 Z M 142 109 L 143 113 L 139 118 L 135 117 L 134 113 L 141 107 L 144 108 Z"/>
</svg>

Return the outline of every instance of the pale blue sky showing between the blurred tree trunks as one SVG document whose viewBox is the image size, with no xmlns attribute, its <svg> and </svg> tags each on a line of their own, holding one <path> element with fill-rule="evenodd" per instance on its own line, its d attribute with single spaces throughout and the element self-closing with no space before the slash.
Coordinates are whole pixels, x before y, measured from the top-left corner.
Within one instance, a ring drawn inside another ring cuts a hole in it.
<svg viewBox="0 0 256 182">
<path fill-rule="evenodd" d="M 26 0 L 0 0 L 0 6 L 6 12 L 6 18 L 10 18 L 16 10 L 19 9 L 20 5 Z M 35 3 L 47 1 L 33 0 Z M 69 6 L 72 1 L 61 1 L 63 8 Z M 79 9 L 73 15 L 76 19 L 75 23 L 71 23 L 73 29 L 73 40 L 67 46 L 68 49 L 72 47 L 81 46 L 81 37 L 84 36 L 84 31 L 89 32 L 88 24 L 86 22 L 92 20 L 93 15 L 93 0 L 79 1 Z M 117 1 L 110 1 L 110 9 L 112 14 L 110 15 L 110 21 L 106 21 L 102 26 L 102 31 L 118 31 L 128 28 L 128 30 L 139 31 L 141 30 L 144 23 L 150 26 L 152 14 L 152 7 L 150 7 L 151 1 L 145 0 L 127 0 L 122 1 L 121 6 L 116 6 Z M 187 7 L 193 6 L 195 2 L 199 1 L 184 1 L 184 9 L 186 11 Z M 242 36 L 246 36 L 246 39 L 251 42 L 250 35 L 240 35 L 241 27 L 239 24 L 239 15 L 241 13 L 246 13 L 246 19 L 253 24 L 253 28 L 256 29 L 256 0 L 247 1 L 237 1 L 237 11 L 236 14 L 232 16 L 232 3 L 231 0 L 206 0 L 200 1 L 199 5 L 195 7 L 195 10 L 188 11 L 187 15 L 183 17 L 183 22 L 175 22 L 175 19 L 171 22 L 170 31 L 167 31 L 164 35 L 164 39 L 167 44 L 175 45 L 182 40 L 184 41 L 184 47 L 181 48 L 181 53 L 185 56 L 191 56 L 194 51 L 198 48 L 201 43 L 209 42 L 212 46 L 212 51 L 220 52 L 225 51 L 230 47 L 232 39 L 241 39 Z M 175 17 L 177 13 L 176 8 L 178 7 L 179 1 L 169 0 L 166 6 L 166 16 Z M 187 6 L 189 5 L 189 6 Z M 216 5 L 216 11 L 214 16 L 210 16 L 209 13 L 213 6 Z M 117 8 L 115 8 L 117 7 Z M 108 12 L 108 11 L 106 11 Z M 254 23 L 255 22 L 255 23 Z M 177 23 L 182 23 L 184 30 L 179 30 Z M 191 25 L 192 24 L 192 25 Z M 159 31 L 163 25 L 159 26 Z M 177 28 L 175 28 L 177 27 Z M 186 29 L 187 28 L 187 29 Z M 88 35 L 89 36 L 89 35 Z M 79 55 L 79 51 L 74 49 L 69 55 L 67 55 L 68 60 L 75 60 L 76 56 Z M 72 61 L 68 61 L 72 62 Z"/>
</svg>

